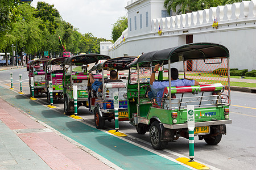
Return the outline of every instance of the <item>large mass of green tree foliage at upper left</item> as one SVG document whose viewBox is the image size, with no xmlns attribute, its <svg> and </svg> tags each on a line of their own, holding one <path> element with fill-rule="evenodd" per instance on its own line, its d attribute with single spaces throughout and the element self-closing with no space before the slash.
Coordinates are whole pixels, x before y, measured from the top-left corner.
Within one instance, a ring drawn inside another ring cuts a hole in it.
<svg viewBox="0 0 256 170">
<path fill-rule="evenodd" d="M 58 34 L 65 50 L 73 54 L 100 53 L 100 41 L 111 41 L 98 39 L 90 32 L 82 35 L 46 2 L 38 2 L 36 8 L 19 0 L 1 0 L 0 5 L 0 52 L 12 53 L 14 44 L 19 56 L 26 52 L 42 58 L 44 51 L 62 56 Z"/>
</svg>

